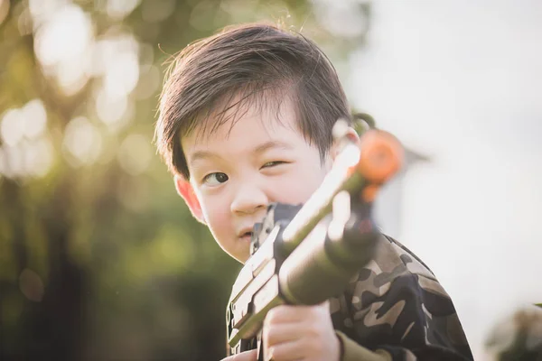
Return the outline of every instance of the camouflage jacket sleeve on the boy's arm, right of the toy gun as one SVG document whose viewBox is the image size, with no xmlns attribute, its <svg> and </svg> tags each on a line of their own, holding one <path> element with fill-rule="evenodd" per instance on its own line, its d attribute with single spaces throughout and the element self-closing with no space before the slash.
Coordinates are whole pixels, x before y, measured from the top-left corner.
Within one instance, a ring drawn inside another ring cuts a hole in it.
<svg viewBox="0 0 542 361">
<path fill-rule="evenodd" d="M 382 238 L 375 259 L 331 305 L 335 329 L 393 361 L 473 359 L 444 288 L 392 238 Z"/>
</svg>

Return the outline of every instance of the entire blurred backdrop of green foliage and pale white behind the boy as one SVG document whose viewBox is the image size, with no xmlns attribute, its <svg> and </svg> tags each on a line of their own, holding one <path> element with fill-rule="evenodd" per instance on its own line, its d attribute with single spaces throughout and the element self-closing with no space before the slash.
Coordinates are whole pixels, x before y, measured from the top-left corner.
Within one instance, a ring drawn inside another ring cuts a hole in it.
<svg viewBox="0 0 542 361">
<path fill-rule="evenodd" d="M 452 295 L 476 359 L 542 301 L 537 0 L 0 0 L 2 359 L 218 360 L 240 264 L 153 145 L 167 60 L 266 20 L 318 42 L 408 149 L 378 221 Z"/>
</svg>

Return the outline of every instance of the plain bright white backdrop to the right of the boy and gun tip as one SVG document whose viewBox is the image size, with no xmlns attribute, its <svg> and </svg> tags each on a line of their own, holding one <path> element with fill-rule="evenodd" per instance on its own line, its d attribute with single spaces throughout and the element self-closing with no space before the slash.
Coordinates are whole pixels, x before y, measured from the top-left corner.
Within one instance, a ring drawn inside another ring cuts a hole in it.
<svg viewBox="0 0 542 361">
<path fill-rule="evenodd" d="M 399 240 L 452 295 L 476 359 L 542 302 L 542 2 L 377 0 L 354 106 L 432 158 L 407 174 Z"/>
</svg>

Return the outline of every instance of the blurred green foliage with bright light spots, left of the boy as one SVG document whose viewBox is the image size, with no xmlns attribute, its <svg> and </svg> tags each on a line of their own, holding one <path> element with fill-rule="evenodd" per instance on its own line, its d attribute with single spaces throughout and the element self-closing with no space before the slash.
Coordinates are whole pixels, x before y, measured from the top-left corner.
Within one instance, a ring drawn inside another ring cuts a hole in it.
<svg viewBox="0 0 542 361">
<path fill-rule="evenodd" d="M 164 62 L 257 20 L 303 27 L 337 58 L 360 45 L 363 26 L 333 33 L 317 3 L 0 0 L 2 359 L 224 356 L 240 264 L 154 152 Z"/>
</svg>

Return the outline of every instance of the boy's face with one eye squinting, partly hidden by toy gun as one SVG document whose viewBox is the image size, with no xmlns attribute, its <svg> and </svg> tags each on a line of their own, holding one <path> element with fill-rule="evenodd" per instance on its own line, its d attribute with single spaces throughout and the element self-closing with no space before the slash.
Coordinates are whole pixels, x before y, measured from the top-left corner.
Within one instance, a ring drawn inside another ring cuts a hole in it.
<svg viewBox="0 0 542 361">
<path fill-rule="evenodd" d="M 289 102 L 280 108 L 280 121 L 275 109 L 258 110 L 239 112 L 233 127 L 226 123 L 212 134 L 182 138 L 203 220 L 222 249 L 241 263 L 250 255 L 248 232 L 264 218 L 266 206 L 304 203 L 332 164 L 330 156 L 322 162 L 316 146 L 297 130 Z"/>
</svg>

